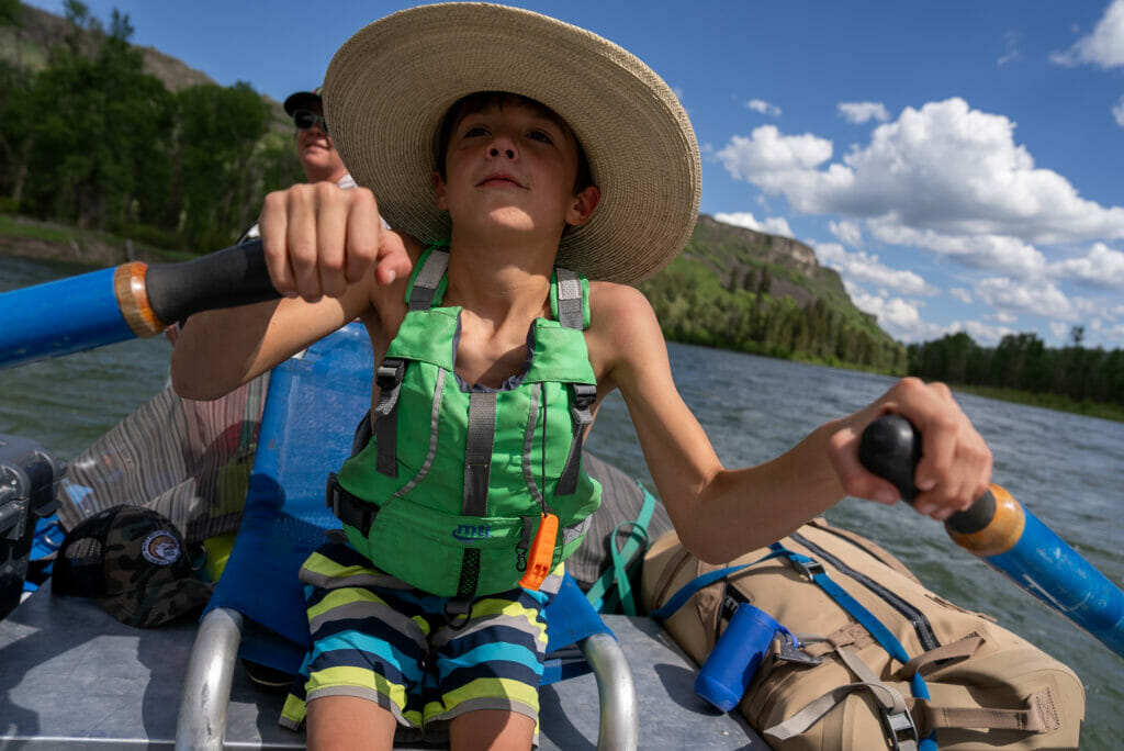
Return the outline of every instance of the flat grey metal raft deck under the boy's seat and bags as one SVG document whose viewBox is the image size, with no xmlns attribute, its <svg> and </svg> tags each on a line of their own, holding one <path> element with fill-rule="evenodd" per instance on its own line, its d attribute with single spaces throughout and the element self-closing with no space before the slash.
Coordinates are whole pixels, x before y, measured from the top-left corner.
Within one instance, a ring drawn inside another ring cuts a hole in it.
<svg viewBox="0 0 1124 751">
<path fill-rule="evenodd" d="M 623 615 L 605 622 L 636 682 L 640 748 L 769 748 L 740 716 L 695 695 L 694 664 L 655 622 Z M 0 621 L 0 748 L 174 748 L 194 636 L 193 622 L 126 626 L 93 600 L 52 597 L 48 583 Z M 235 670 L 226 748 L 305 748 L 302 733 L 277 725 L 283 699 Z M 598 718 L 592 675 L 546 686 L 540 748 L 596 748 Z"/>
</svg>

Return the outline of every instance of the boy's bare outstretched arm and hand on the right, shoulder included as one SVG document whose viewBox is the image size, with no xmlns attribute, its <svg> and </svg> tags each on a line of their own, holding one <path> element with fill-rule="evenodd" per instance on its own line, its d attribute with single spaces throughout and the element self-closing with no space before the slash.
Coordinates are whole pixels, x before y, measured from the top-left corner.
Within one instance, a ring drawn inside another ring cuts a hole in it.
<svg viewBox="0 0 1124 751">
<path fill-rule="evenodd" d="M 862 469 L 858 441 L 879 415 L 909 417 L 925 437 L 917 497 L 923 513 L 943 518 L 971 505 L 990 476 L 982 438 L 941 384 L 907 379 L 878 401 L 833 420 L 777 459 L 727 470 L 676 389 L 667 345 L 651 305 L 638 291 L 598 286 L 591 296 L 591 355 L 605 358 L 601 384 L 619 388 L 647 467 L 680 539 L 699 558 L 725 562 L 773 542 L 844 495 L 894 503 L 897 490 Z M 753 429 L 747 425 L 746 429 Z"/>
</svg>

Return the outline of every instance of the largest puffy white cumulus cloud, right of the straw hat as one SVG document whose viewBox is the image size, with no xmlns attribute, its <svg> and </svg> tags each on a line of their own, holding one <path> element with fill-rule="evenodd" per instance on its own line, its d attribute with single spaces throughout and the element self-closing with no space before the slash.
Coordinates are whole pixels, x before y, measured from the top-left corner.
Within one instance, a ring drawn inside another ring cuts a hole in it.
<svg viewBox="0 0 1124 751">
<path fill-rule="evenodd" d="M 952 98 L 907 107 L 869 145 L 826 166 L 831 141 L 776 126 L 734 136 L 716 155 L 732 177 L 783 194 L 800 212 L 1026 243 L 1124 237 L 1124 208 L 1082 199 L 1062 175 L 1035 168 L 1014 129 L 1006 117 Z"/>
</svg>

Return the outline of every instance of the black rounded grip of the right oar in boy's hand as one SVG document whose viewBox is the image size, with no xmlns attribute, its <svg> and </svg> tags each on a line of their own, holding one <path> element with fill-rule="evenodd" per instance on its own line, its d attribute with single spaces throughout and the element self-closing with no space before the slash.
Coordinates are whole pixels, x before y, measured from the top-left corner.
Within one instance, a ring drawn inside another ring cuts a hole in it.
<svg viewBox="0 0 1124 751">
<path fill-rule="evenodd" d="M 859 441 L 859 461 L 874 474 L 892 482 L 901 499 L 913 504 L 917 497 L 914 473 L 921 459 L 921 434 L 900 415 L 882 415 L 871 423 Z M 945 528 L 971 534 L 987 527 L 995 517 L 995 497 L 986 491 L 967 512 L 957 512 L 944 522 Z"/>
</svg>

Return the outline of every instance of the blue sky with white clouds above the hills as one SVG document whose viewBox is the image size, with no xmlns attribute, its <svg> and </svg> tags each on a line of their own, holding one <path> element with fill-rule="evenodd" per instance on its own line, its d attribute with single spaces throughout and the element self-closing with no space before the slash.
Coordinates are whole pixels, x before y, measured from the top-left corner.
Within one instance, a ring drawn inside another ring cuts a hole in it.
<svg viewBox="0 0 1124 751">
<path fill-rule="evenodd" d="M 279 101 L 411 4 L 84 1 Z M 808 244 L 899 341 L 1124 349 L 1124 0 L 511 4 L 646 62 L 695 127 L 701 211 Z"/>
</svg>

